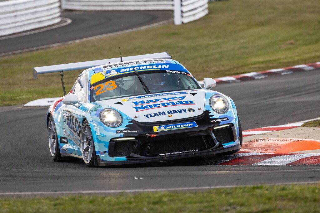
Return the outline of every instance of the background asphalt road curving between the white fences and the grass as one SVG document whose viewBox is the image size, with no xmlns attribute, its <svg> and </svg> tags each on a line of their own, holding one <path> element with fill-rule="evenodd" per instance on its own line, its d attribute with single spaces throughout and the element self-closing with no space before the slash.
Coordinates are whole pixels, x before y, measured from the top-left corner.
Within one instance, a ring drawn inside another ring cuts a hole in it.
<svg viewBox="0 0 320 213">
<path fill-rule="evenodd" d="M 173 13 L 172 11 L 63 11 L 61 17 L 71 19 L 72 22 L 44 32 L 0 40 L 0 54 L 142 27 L 171 19 Z"/>
</svg>

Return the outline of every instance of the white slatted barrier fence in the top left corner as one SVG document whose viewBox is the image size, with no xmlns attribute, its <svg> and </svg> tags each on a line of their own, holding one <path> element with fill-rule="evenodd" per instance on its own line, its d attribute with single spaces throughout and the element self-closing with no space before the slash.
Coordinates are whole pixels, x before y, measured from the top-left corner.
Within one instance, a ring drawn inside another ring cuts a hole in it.
<svg viewBox="0 0 320 213">
<path fill-rule="evenodd" d="M 0 36 L 60 22 L 60 0 L 0 2 Z"/>
</svg>

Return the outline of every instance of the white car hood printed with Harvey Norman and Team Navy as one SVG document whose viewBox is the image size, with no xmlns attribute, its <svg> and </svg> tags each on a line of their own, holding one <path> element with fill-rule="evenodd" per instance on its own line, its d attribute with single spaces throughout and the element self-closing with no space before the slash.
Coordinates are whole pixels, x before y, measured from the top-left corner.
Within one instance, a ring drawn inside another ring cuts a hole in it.
<svg viewBox="0 0 320 213">
<path fill-rule="evenodd" d="M 109 105 L 122 116 L 138 122 L 170 121 L 199 116 L 204 112 L 205 90 L 182 90 L 116 98 L 96 103 Z"/>
</svg>

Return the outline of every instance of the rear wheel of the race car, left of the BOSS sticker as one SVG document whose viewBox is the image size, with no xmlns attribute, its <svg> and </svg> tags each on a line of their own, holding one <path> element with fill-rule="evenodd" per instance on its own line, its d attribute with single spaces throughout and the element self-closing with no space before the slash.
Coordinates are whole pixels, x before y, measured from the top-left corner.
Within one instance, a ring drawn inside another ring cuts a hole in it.
<svg viewBox="0 0 320 213">
<path fill-rule="evenodd" d="M 52 115 L 50 115 L 50 117 L 49 117 L 48 137 L 49 137 L 49 149 L 50 149 L 50 154 L 52 156 L 52 159 L 55 162 L 62 161 L 62 157 L 60 154 L 60 148 L 59 148 L 58 134 L 56 131 L 56 126 L 54 124 L 54 120 L 52 118 Z"/>
</svg>

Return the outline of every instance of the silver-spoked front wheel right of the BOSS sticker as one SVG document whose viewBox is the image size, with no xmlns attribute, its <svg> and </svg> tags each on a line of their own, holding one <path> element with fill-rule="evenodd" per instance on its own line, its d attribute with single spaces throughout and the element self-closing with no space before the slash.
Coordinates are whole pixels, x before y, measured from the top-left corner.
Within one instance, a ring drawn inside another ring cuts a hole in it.
<svg viewBox="0 0 320 213">
<path fill-rule="evenodd" d="M 96 151 L 94 148 L 90 125 L 87 121 L 84 122 L 81 131 L 81 154 L 84 163 L 93 167 L 96 165 Z"/>
</svg>

